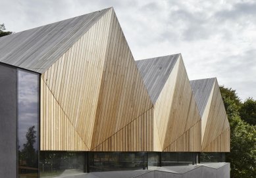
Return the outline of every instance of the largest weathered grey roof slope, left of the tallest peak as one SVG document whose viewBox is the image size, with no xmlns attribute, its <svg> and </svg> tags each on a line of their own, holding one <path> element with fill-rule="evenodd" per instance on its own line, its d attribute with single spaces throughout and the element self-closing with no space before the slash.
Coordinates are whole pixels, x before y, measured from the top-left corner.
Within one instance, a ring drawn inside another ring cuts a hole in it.
<svg viewBox="0 0 256 178">
<path fill-rule="evenodd" d="M 43 73 L 109 9 L 0 37 L 0 62 Z"/>
</svg>

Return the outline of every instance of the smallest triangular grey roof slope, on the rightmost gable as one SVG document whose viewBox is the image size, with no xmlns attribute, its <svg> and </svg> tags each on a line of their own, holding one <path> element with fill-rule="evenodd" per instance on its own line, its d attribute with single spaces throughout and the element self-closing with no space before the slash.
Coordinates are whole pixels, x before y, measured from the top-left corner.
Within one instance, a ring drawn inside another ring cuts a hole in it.
<svg viewBox="0 0 256 178">
<path fill-rule="evenodd" d="M 199 114 L 202 117 L 205 110 L 207 101 L 211 95 L 213 85 L 216 78 L 207 78 L 207 79 L 195 79 L 190 81 L 192 87 L 193 96 L 195 97 L 195 102 L 199 110 Z"/>
</svg>

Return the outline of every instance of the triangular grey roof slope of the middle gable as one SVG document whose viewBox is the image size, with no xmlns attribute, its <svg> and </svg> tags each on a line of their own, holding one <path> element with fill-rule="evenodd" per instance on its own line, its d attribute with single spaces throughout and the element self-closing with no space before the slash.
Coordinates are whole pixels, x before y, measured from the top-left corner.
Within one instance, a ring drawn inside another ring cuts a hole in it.
<svg viewBox="0 0 256 178">
<path fill-rule="evenodd" d="M 180 54 L 136 60 L 153 104 L 157 101 L 179 56 Z"/>
</svg>

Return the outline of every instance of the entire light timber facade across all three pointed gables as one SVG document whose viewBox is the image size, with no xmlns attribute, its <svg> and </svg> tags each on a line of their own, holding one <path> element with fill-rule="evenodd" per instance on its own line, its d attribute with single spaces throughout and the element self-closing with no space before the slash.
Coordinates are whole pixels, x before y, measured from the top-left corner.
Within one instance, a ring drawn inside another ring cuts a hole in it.
<svg viewBox="0 0 256 178">
<path fill-rule="evenodd" d="M 41 74 L 40 150 L 229 151 L 217 80 L 200 116 L 178 55 L 153 102 L 113 8 L 54 61 Z"/>
</svg>

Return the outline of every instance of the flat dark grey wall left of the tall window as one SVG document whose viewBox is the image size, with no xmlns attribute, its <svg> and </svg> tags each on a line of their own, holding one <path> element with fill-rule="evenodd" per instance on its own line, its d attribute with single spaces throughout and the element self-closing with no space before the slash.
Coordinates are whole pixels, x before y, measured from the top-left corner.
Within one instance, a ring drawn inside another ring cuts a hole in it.
<svg viewBox="0 0 256 178">
<path fill-rule="evenodd" d="M 0 63 L 0 177 L 16 177 L 16 69 Z"/>
</svg>

